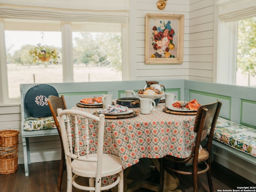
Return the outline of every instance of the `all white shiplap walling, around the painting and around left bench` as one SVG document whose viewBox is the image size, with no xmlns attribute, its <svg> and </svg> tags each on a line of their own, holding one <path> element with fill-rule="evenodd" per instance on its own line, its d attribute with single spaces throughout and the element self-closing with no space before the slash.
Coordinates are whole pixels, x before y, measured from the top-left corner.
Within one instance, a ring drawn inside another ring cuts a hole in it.
<svg viewBox="0 0 256 192">
<path fill-rule="evenodd" d="M 214 0 L 170 0 L 164 10 L 156 7 L 157 0 L 130 0 L 130 80 L 190 79 L 212 81 Z M 184 14 L 183 64 L 145 64 L 145 14 Z M 13 126 L 21 130 L 20 105 L 0 106 L 0 130 Z M 60 157 L 57 136 L 31 139 L 37 153 L 31 162 L 54 160 Z M 19 137 L 19 163 L 23 149 Z M 40 154 L 52 151 L 44 159 Z M 55 155 L 54 155 L 55 154 Z"/>
</svg>

